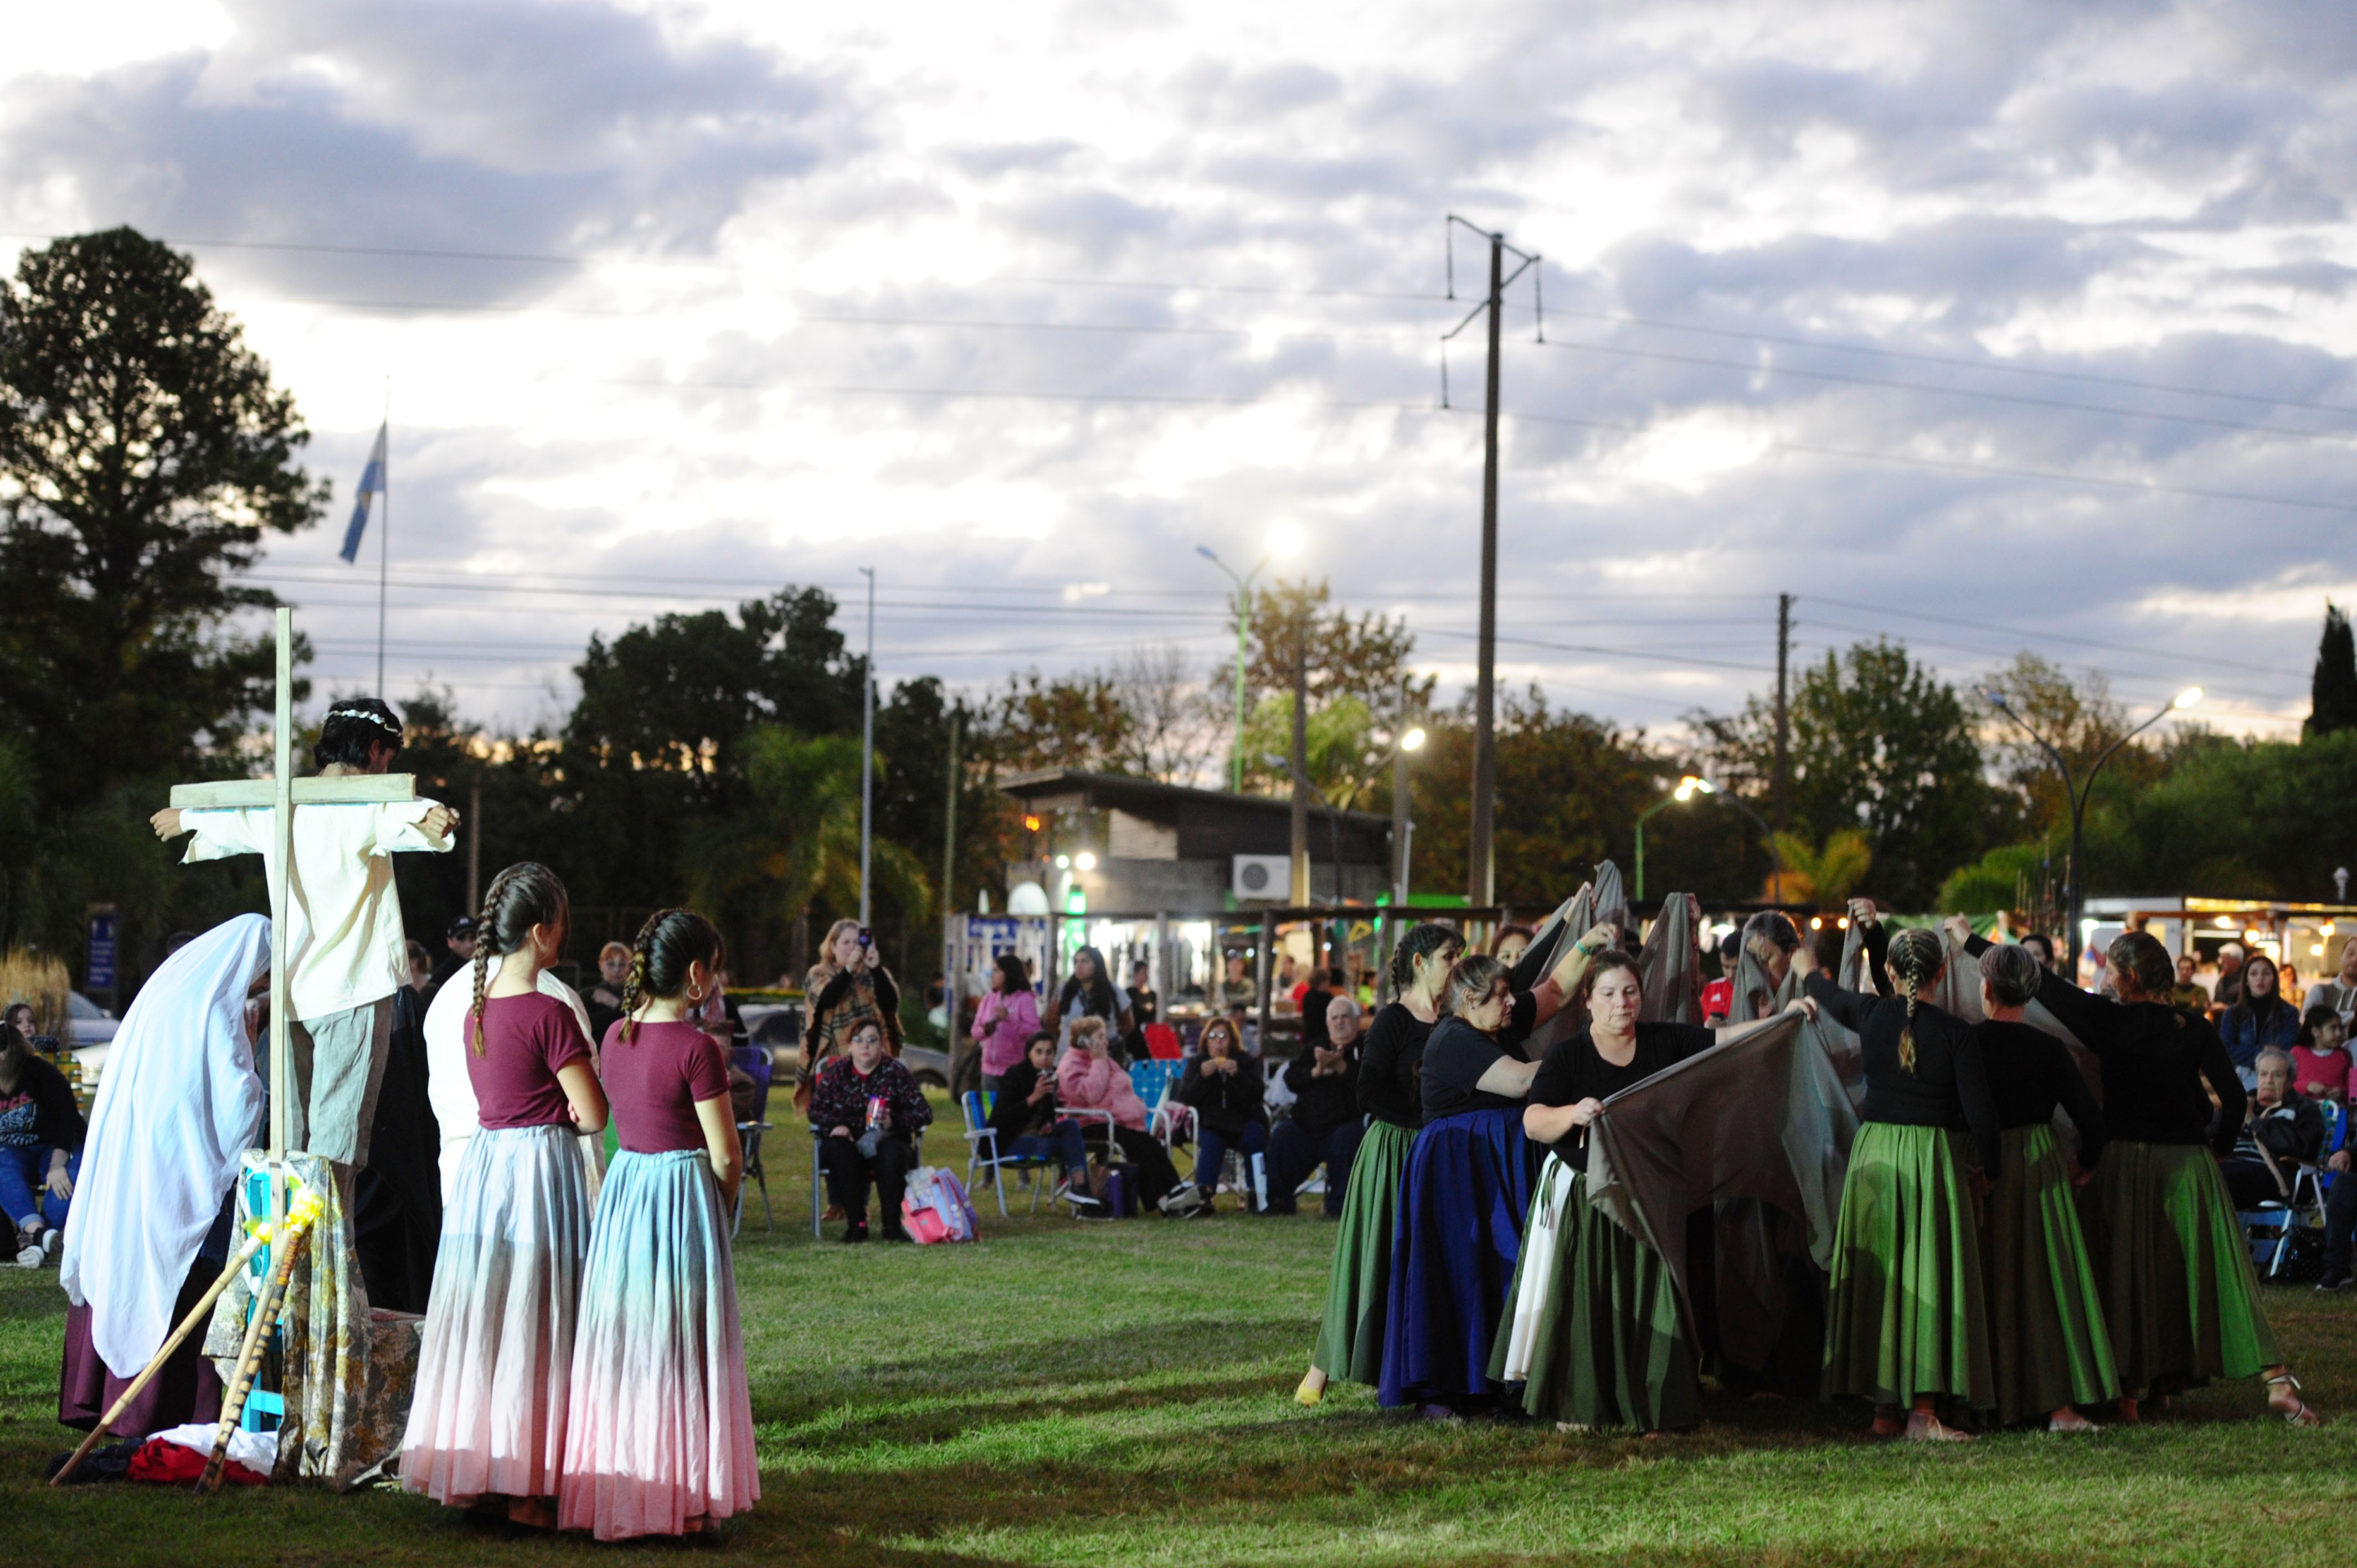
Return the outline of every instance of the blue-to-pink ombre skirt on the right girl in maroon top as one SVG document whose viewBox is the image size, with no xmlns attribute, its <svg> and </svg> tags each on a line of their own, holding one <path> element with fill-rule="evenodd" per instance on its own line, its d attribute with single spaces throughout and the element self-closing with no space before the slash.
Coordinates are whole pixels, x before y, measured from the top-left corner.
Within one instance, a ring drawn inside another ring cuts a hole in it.
<svg viewBox="0 0 2357 1568">
<path fill-rule="evenodd" d="M 700 1148 L 622 1151 L 589 1236 L 556 1523 L 679 1535 L 759 1497 L 719 1184 Z"/>
</svg>

